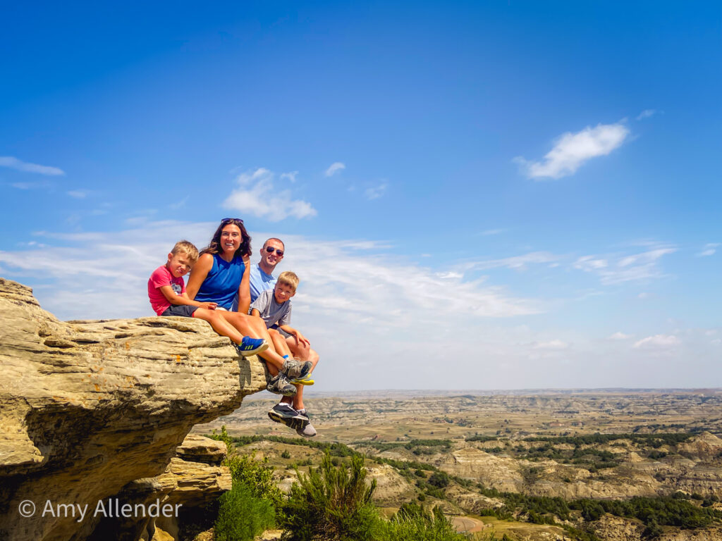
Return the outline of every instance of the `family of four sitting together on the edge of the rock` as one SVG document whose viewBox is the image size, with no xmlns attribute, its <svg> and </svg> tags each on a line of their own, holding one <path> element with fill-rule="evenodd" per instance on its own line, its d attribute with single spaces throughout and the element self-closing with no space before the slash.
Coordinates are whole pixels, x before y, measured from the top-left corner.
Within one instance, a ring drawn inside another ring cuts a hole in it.
<svg viewBox="0 0 722 541">
<path fill-rule="evenodd" d="M 243 220 L 225 218 L 200 254 L 187 240 L 175 243 L 165 265 L 150 276 L 148 296 L 157 315 L 205 320 L 230 338 L 241 355 L 258 353 L 271 374 L 266 388 L 283 395 L 269 417 L 311 437 L 316 429 L 303 406 L 303 385 L 313 384 L 309 376 L 318 353 L 289 325 L 298 277 L 291 272 L 272 275 L 283 254 L 283 242 L 268 239 L 261 260 L 251 265 L 251 237 Z M 183 275 L 191 268 L 186 288 Z"/>
</svg>

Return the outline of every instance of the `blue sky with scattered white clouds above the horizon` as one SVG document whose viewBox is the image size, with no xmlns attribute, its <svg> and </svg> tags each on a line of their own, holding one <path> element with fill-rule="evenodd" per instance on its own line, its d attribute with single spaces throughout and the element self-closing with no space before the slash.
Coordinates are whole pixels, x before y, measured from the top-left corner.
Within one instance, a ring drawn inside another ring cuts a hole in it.
<svg viewBox="0 0 722 541">
<path fill-rule="evenodd" d="M 169 245 L 240 216 L 287 240 L 323 390 L 721 386 L 720 21 L 14 6 L 0 276 L 62 319 L 149 315 Z"/>
</svg>

